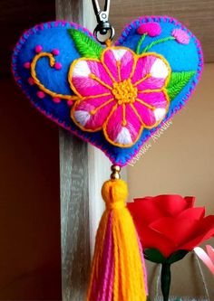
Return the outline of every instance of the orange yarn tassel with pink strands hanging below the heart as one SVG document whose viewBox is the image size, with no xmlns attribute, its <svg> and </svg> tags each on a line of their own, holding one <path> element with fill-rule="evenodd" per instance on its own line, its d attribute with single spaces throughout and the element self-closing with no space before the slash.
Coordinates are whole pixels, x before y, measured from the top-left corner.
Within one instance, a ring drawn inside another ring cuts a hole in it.
<svg viewBox="0 0 214 301">
<path fill-rule="evenodd" d="M 87 301 L 145 301 L 141 250 L 119 179 L 102 185 L 106 210 L 96 235 Z"/>
</svg>

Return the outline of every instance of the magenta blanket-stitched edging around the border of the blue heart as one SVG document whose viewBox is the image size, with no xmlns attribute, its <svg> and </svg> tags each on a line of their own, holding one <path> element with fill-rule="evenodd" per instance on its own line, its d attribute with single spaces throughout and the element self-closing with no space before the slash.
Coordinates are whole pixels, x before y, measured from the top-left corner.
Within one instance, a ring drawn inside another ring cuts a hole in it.
<svg viewBox="0 0 214 301">
<path fill-rule="evenodd" d="M 201 72 L 203 70 L 203 52 L 201 50 L 201 45 L 199 40 L 195 37 L 195 35 L 193 33 L 190 32 L 190 30 L 188 28 L 186 28 L 183 24 L 180 24 L 180 22 L 178 22 L 176 19 L 169 17 L 169 16 L 143 16 L 140 17 L 136 20 L 134 20 L 133 22 L 131 22 L 131 24 L 127 24 L 124 27 L 124 30 L 122 31 L 122 35 L 118 38 L 118 40 L 115 42 L 116 46 L 120 46 L 122 44 L 122 42 L 125 42 L 127 37 L 129 36 L 130 32 L 133 29 L 136 29 L 139 27 L 140 24 L 145 24 L 145 23 L 150 23 L 150 22 L 158 22 L 160 23 L 160 21 L 165 22 L 165 23 L 171 23 L 177 26 L 180 26 L 181 29 L 183 29 L 184 31 L 186 31 L 187 33 L 190 34 L 190 37 L 194 40 L 195 44 L 196 44 L 196 48 L 198 50 L 199 53 L 199 65 L 198 65 L 198 69 L 197 69 L 197 74 L 194 76 L 195 81 L 192 82 L 191 87 L 189 89 L 189 91 L 186 93 L 186 97 L 181 99 L 180 102 L 178 102 L 178 105 L 176 108 L 172 109 L 171 111 L 169 111 L 169 116 L 168 118 L 164 118 L 161 122 L 160 125 L 158 127 L 155 127 L 153 129 L 150 130 L 150 133 L 148 133 L 147 136 L 145 136 L 144 139 L 140 139 L 136 142 L 136 144 L 134 145 L 134 153 L 131 153 L 129 155 L 126 155 L 123 160 L 115 160 L 115 157 L 111 154 L 108 153 L 108 151 L 102 146 L 102 144 L 100 143 L 100 141 L 92 141 L 91 137 L 87 137 L 84 135 L 83 131 L 81 130 L 73 130 L 71 127 L 68 127 L 64 124 L 63 122 L 60 122 L 58 118 L 53 118 L 52 115 L 48 114 L 48 112 L 46 112 L 43 108 L 40 108 L 35 102 L 34 99 L 31 99 L 31 96 L 28 94 L 27 90 L 24 90 L 22 87 L 22 78 L 18 75 L 17 73 L 17 66 L 16 66 L 16 59 L 18 58 L 19 52 L 22 50 L 22 46 L 23 44 L 27 41 L 28 37 L 31 36 L 32 34 L 38 32 L 38 31 L 42 31 L 44 29 L 48 29 L 48 28 L 52 28 L 52 27 L 57 27 L 59 25 L 65 25 L 65 24 L 70 24 L 71 26 L 73 26 L 73 28 L 75 29 L 81 29 L 84 33 L 87 33 L 90 37 L 92 37 L 92 39 L 94 41 L 95 38 L 92 35 L 92 33 L 87 30 L 86 28 L 84 28 L 82 25 L 79 24 L 75 24 L 73 22 L 67 22 L 67 21 L 53 21 L 53 22 L 48 22 L 45 24 L 38 24 L 35 25 L 33 28 L 29 29 L 28 31 L 24 32 L 20 39 L 18 40 L 18 42 L 15 45 L 15 50 L 13 52 L 13 56 L 12 56 L 12 72 L 14 74 L 15 77 L 15 81 L 17 82 L 18 86 L 24 91 L 24 94 L 26 95 L 26 97 L 28 99 L 30 99 L 31 103 L 34 105 L 35 108 L 37 108 L 42 114 L 44 114 L 44 116 L 46 118 L 49 118 L 51 120 L 53 120 L 53 122 L 55 122 L 58 126 L 63 127 L 64 129 L 68 130 L 70 133 L 80 137 L 81 139 L 83 139 L 84 141 L 91 143 L 93 146 L 96 146 L 97 148 L 99 148 L 111 161 L 112 164 L 116 164 L 116 165 L 120 165 L 125 166 L 128 165 L 128 163 L 131 161 L 132 158 L 135 157 L 135 155 L 137 155 L 140 150 L 141 150 L 141 146 L 143 144 L 145 144 L 145 142 L 154 134 L 156 133 L 160 127 L 162 127 L 164 125 L 164 123 L 166 121 L 168 121 L 170 118 L 172 118 L 183 106 L 184 104 L 190 99 L 191 94 L 194 92 L 196 85 L 200 79 L 201 76 Z"/>
</svg>

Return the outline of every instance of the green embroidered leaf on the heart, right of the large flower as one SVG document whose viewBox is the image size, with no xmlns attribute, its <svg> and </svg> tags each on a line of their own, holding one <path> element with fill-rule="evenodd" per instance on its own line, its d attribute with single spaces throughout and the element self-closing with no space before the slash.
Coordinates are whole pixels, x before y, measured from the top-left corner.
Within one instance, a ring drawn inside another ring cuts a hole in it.
<svg viewBox="0 0 214 301">
<path fill-rule="evenodd" d="M 170 76 L 170 81 L 167 86 L 168 95 L 171 99 L 174 99 L 181 91 L 181 89 L 186 86 L 189 80 L 196 74 L 196 71 L 182 71 L 182 72 L 172 72 Z"/>
</svg>

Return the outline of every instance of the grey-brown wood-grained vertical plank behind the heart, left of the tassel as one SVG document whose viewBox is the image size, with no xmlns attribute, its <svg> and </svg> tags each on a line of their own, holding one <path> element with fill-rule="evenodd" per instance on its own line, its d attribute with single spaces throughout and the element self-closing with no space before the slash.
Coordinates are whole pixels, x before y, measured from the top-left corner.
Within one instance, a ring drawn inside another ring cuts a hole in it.
<svg viewBox="0 0 214 301">
<path fill-rule="evenodd" d="M 83 23 L 82 0 L 56 0 L 56 17 Z M 88 153 L 79 138 L 60 130 L 62 295 L 84 300 L 90 268 Z"/>
</svg>

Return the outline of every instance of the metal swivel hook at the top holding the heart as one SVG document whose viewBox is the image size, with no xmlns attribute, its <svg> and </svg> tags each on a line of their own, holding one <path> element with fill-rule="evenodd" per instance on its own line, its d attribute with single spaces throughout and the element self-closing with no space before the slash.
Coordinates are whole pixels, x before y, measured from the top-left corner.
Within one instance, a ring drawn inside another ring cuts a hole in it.
<svg viewBox="0 0 214 301">
<path fill-rule="evenodd" d="M 98 35 L 99 33 L 101 35 L 106 35 L 107 33 L 110 33 L 110 36 L 108 39 L 112 40 L 114 36 L 114 28 L 109 23 L 109 10 L 110 10 L 110 0 L 105 0 L 104 10 L 101 9 L 98 0 L 92 0 L 92 6 L 94 10 L 94 14 L 96 15 L 97 19 L 97 26 L 95 27 L 93 34 L 95 35 L 96 39 L 101 42 L 102 44 L 105 43 L 105 41 L 102 41 L 99 39 Z"/>
</svg>

